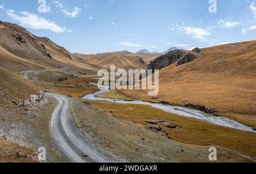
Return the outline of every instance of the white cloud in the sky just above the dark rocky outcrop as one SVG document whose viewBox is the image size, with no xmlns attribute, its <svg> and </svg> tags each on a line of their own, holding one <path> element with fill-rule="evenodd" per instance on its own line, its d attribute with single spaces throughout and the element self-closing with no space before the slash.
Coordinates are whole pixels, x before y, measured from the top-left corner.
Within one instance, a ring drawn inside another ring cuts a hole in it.
<svg viewBox="0 0 256 174">
<path fill-rule="evenodd" d="M 182 27 L 182 30 L 185 32 L 185 34 L 192 35 L 193 38 L 200 40 L 206 40 L 205 36 L 212 35 L 212 33 L 210 33 L 207 30 L 204 30 L 203 28 L 193 28 L 187 26 Z"/>
</svg>

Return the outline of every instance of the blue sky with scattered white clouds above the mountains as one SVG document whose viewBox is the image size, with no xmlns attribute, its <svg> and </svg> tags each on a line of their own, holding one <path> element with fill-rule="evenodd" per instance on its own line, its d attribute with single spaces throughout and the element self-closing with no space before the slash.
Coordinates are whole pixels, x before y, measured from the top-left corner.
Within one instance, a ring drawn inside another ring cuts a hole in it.
<svg viewBox="0 0 256 174">
<path fill-rule="evenodd" d="M 38 0 L 0 0 L 0 20 L 79 53 L 256 40 L 256 2 L 216 2 L 209 13 L 209 0 L 46 0 L 43 11 Z"/>
</svg>

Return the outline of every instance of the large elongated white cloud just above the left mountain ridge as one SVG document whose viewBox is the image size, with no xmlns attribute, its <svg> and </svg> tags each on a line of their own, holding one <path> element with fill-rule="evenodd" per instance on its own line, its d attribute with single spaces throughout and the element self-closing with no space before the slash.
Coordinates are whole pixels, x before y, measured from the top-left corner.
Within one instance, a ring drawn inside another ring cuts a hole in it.
<svg viewBox="0 0 256 174">
<path fill-rule="evenodd" d="M 21 15 L 16 15 L 14 11 L 7 11 L 6 14 L 13 20 L 20 23 L 21 26 L 31 28 L 34 30 L 51 30 L 53 32 L 64 32 L 64 27 L 58 26 L 52 20 L 43 18 L 36 14 L 28 13 L 26 11 L 20 12 Z"/>
</svg>

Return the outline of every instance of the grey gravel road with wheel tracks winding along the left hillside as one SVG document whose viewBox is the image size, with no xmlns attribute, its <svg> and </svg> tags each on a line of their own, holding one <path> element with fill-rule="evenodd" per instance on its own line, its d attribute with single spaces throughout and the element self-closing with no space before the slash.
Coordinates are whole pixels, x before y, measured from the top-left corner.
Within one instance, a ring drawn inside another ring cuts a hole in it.
<svg viewBox="0 0 256 174">
<path fill-rule="evenodd" d="M 39 71 L 22 72 L 23 77 L 28 79 L 28 73 L 34 72 Z M 47 69 L 40 72 L 47 72 Z M 45 94 L 58 101 L 52 114 L 51 130 L 57 146 L 63 151 L 64 155 L 74 163 L 108 162 L 104 156 L 94 150 L 93 144 L 86 140 L 84 134 L 76 128 L 70 110 L 71 98 L 60 94 Z"/>
</svg>

